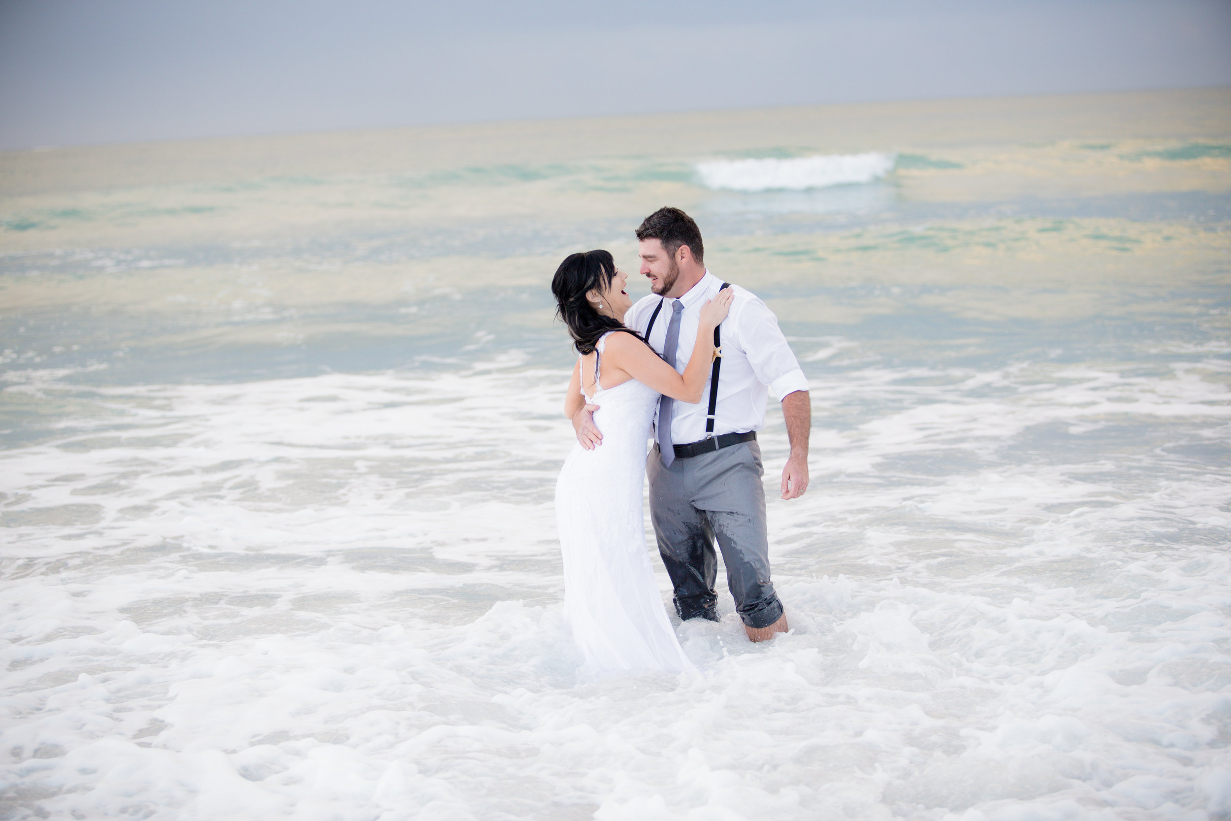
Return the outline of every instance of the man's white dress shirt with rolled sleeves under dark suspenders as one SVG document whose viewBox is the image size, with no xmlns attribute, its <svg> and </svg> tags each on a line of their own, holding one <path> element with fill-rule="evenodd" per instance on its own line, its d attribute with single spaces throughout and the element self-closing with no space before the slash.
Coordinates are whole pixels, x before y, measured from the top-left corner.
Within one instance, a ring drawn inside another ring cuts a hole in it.
<svg viewBox="0 0 1231 821">
<path fill-rule="evenodd" d="M 718 295 L 723 281 L 707 268 L 705 276 L 680 298 L 684 309 L 680 315 L 680 343 L 676 348 L 676 370 L 684 372 L 697 342 L 700 308 Z M 718 377 L 718 410 L 714 435 L 760 431 L 766 423 L 766 395 L 773 391 L 782 399 L 796 390 L 808 390 L 808 379 L 778 329 L 778 318 L 751 292 L 731 286 L 735 300 L 719 326 L 723 342 L 723 369 Z M 662 297 L 650 294 L 628 310 L 624 324 L 645 336 L 654 309 Z M 650 347 L 662 352 L 671 322 L 671 300 L 659 311 L 650 331 Z M 696 405 L 676 401 L 671 416 L 671 441 L 687 444 L 705 438 L 705 412 L 709 410 L 709 380 L 702 400 Z M 657 425 L 657 419 L 655 419 Z"/>
</svg>

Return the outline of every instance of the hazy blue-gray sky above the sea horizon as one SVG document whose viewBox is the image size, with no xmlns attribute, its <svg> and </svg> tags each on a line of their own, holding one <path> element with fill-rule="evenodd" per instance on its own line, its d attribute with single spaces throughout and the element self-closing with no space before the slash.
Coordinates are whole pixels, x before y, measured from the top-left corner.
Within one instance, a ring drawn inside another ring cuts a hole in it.
<svg viewBox="0 0 1231 821">
<path fill-rule="evenodd" d="M 1231 0 L 0 0 L 0 149 L 1231 85 Z"/>
</svg>

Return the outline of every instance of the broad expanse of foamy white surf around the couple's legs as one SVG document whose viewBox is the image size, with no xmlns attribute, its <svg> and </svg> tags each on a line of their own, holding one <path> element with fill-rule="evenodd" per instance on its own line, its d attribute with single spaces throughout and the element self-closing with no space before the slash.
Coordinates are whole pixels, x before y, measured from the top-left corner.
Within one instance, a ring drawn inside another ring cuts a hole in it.
<svg viewBox="0 0 1231 821">
<path fill-rule="evenodd" d="M 565 374 L 518 366 L 76 389 L 0 454 L 14 817 L 1231 812 L 1229 483 L 1182 455 L 1231 437 L 1225 363 L 815 380 L 812 490 L 769 502 L 793 634 L 724 593 L 678 627 L 700 678 L 597 684 Z"/>
</svg>

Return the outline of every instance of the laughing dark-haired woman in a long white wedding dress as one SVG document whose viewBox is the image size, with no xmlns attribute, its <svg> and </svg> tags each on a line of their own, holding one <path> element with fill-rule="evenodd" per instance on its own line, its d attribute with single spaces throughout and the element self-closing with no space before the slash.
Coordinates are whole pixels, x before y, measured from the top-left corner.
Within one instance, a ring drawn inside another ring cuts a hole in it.
<svg viewBox="0 0 1231 821">
<path fill-rule="evenodd" d="M 641 487 L 646 441 L 659 395 L 699 402 L 714 352 L 714 327 L 731 289 L 705 303 L 683 374 L 659 358 L 624 314 L 628 274 L 607 251 L 569 256 L 551 279 L 556 314 L 580 358 L 564 414 L 598 405 L 602 444 L 572 447 L 555 484 L 564 555 L 564 611 L 593 675 L 629 670 L 694 670 L 667 620 L 645 545 Z"/>
</svg>

